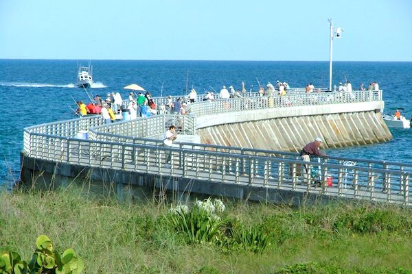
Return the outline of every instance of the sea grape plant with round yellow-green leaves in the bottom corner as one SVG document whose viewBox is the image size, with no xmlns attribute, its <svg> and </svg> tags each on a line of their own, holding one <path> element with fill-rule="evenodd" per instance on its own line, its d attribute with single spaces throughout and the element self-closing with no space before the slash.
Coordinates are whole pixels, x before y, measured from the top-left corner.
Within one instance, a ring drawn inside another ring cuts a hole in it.
<svg viewBox="0 0 412 274">
<path fill-rule="evenodd" d="M 78 258 L 73 249 L 59 254 L 45 235 L 38 236 L 36 250 L 28 264 L 14 251 L 0 253 L 0 274 L 79 274 L 83 269 L 84 260 Z"/>
</svg>

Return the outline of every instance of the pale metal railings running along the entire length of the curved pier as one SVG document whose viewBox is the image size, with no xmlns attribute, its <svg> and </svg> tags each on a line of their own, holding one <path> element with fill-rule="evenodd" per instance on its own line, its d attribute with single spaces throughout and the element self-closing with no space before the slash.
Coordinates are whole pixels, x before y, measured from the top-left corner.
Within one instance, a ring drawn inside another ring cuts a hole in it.
<svg viewBox="0 0 412 274">
<path fill-rule="evenodd" d="M 36 125 L 25 128 L 23 153 L 32 158 L 90 167 L 409 205 L 412 164 L 338 157 L 321 158 L 319 162 L 302 162 L 298 153 L 188 142 L 181 142 L 179 147 L 166 148 L 161 146 L 161 139 L 153 139 L 163 135 L 168 125 L 172 124 L 181 134 L 195 134 L 196 116 L 201 115 L 382 99 L 380 91 L 352 93 L 290 92 L 285 97 L 252 96 L 201 101 L 191 104 L 194 116 L 158 115 L 110 125 L 104 125 L 100 116 Z M 88 130 L 89 140 L 76 138 L 81 130 Z M 168 150 L 173 155 L 171 168 L 164 166 L 165 152 Z M 303 169 L 310 171 L 309 183 L 317 182 L 319 187 L 299 185 Z"/>
</svg>

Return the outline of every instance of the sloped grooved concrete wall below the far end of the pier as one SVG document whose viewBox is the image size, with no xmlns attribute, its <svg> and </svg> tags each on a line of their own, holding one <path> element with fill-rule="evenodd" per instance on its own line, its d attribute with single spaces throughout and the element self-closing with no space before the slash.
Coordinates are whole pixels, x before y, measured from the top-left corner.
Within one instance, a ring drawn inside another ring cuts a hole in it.
<svg viewBox="0 0 412 274">
<path fill-rule="evenodd" d="M 317 136 L 323 148 L 349 147 L 392 139 L 382 114 L 369 110 L 213 125 L 197 130 L 204 144 L 300 151 Z"/>
</svg>

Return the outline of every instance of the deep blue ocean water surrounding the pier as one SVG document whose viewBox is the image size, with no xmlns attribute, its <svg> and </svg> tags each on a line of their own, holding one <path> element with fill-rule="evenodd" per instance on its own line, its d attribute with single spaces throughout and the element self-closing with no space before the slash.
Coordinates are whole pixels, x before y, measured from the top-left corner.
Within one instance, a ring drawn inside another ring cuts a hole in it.
<svg viewBox="0 0 412 274">
<path fill-rule="evenodd" d="M 0 96 L 3 114 L 0 119 L 0 184 L 19 178 L 19 152 L 23 149 L 23 128 L 40 123 L 73 119 L 75 101 L 89 101 L 82 88 L 76 88 L 78 63 L 89 60 L 0 60 Z M 252 62 L 252 61 L 126 61 L 92 60 L 95 84 L 92 95 L 119 91 L 139 84 L 154 97 L 185 95 L 194 87 L 198 94 L 220 90 L 223 85 L 258 90 L 277 79 L 290 87 L 328 87 L 329 62 Z M 401 108 L 408 119 L 412 115 L 412 62 L 334 62 L 333 84 L 349 79 L 353 88 L 376 81 L 384 90 L 385 112 Z M 330 155 L 412 162 L 412 131 L 391 129 L 390 142 L 328 149 Z"/>
</svg>

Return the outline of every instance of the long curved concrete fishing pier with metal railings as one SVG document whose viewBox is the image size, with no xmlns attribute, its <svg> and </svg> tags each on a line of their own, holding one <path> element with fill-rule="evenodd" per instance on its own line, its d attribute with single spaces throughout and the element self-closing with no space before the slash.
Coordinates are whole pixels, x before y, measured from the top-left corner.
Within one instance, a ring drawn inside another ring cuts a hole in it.
<svg viewBox="0 0 412 274">
<path fill-rule="evenodd" d="M 156 98 L 163 105 L 166 98 Z M 320 136 L 324 147 L 386 142 L 382 91 L 288 92 L 190 104 L 190 115 L 156 115 L 104 125 L 100 116 L 27 127 L 21 179 L 30 188 L 89 182 L 119 199 L 170 190 L 298 205 L 365 199 L 410 206 L 412 164 L 352 158 L 313 159 L 314 184 L 301 184 L 299 151 Z M 175 125 L 176 146 L 162 138 Z M 87 139 L 80 132 L 87 131 Z M 165 167 L 165 151 L 172 166 Z"/>
</svg>

